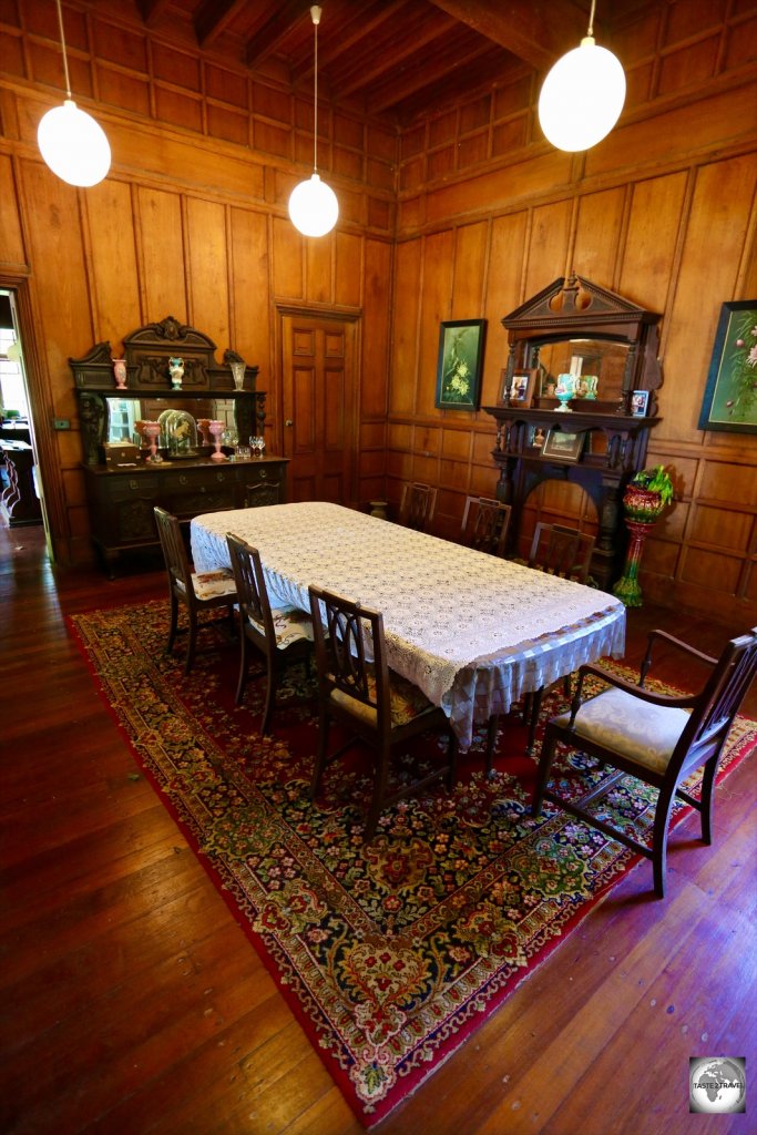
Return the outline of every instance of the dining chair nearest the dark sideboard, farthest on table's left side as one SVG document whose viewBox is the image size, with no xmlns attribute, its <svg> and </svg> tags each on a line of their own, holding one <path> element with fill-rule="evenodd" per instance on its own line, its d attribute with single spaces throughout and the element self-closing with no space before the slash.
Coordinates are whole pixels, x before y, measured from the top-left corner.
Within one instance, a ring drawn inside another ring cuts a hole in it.
<svg viewBox="0 0 757 1135">
<path fill-rule="evenodd" d="M 234 604 L 236 603 L 234 575 L 230 570 L 225 568 L 207 572 L 193 571 L 177 518 L 158 506 L 153 512 L 166 562 L 170 597 L 170 627 L 166 653 L 170 654 L 174 648 L 178 633 L 178 608 L 182 606 L 186 609 L 188 619 L 184 662 L 184 673 L 188 674 L 194 662 L 199 612 L 205 611 L 208 607 L 226 607 L 229 627 L 234 625 Z"/>
</svg>

